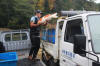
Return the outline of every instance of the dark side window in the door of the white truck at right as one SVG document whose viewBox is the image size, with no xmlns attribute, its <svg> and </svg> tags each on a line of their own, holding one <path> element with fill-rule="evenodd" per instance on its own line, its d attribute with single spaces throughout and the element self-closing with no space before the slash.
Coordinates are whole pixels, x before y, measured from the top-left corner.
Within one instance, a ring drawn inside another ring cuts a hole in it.
<svg viewBox="0 0 100 66">
<path fill-rule="evenodd" d="M 77 34 L 84 34 L 82 19 L 67 22 L 64 41 L 73 43 L 73 36 Z"/>
</svg>

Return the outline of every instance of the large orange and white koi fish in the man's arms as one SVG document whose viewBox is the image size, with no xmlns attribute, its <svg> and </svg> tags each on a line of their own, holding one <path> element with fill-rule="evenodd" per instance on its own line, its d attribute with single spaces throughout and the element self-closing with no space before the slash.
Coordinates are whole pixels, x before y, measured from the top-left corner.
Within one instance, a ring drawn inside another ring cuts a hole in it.
<svg viewBox="0 0 100 66">
<path fill-rule="evenodd" d="M 51 20 L 53 18 L 58 18 L 57 13 L 45 15 L 44 17 L 40 18 L 38 23 L 44 23 L 45 21 Z"/>
</svg>

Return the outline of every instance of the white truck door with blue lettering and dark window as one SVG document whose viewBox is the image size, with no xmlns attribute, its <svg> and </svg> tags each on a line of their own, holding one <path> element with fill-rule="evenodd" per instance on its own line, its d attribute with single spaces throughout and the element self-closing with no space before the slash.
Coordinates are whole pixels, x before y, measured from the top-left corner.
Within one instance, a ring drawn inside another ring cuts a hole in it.
<svg viewBox="0 0 100 66">
<path fill-rule="evenodd" d="M 83 21 L 79 19 L 65 20 L 60 43 L 61 66 L 88 66 L 88 59 L 74 53 L 74 35 L 84 34 Z"/>
</svg>

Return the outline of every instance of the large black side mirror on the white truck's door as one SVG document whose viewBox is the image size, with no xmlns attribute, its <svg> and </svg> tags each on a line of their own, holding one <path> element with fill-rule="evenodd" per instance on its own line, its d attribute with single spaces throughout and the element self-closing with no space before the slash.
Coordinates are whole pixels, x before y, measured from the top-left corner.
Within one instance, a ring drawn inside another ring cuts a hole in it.
<svg viewBox="0 0 100 66">
<path fill-rule="evenodd" d="M 74 53 L 86 56 L 86 36 L 84 35 L 75 35 L 73 36 L 74 40 Z"/>
</svg>

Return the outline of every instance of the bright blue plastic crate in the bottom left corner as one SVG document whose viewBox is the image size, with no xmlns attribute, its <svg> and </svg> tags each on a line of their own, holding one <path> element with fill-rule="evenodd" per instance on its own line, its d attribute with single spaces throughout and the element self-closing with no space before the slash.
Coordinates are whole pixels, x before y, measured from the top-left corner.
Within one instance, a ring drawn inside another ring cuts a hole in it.
<svg viewBox="0 0 100 66">
<path fill-rule="evenodd" d="M 0 66 L 17 66 L 18 56 L 16 52 L 0 53 Z"/>
</svg>

